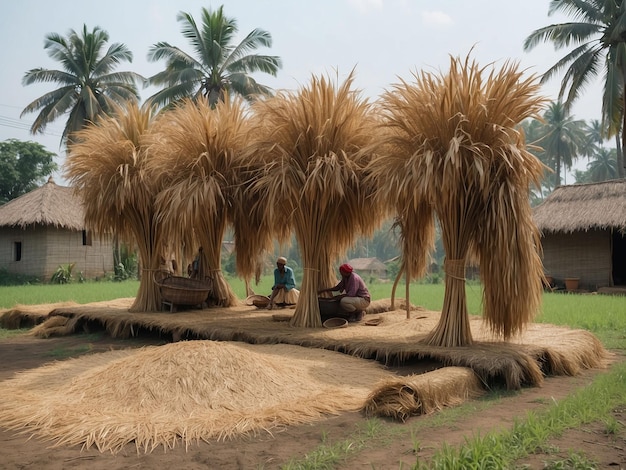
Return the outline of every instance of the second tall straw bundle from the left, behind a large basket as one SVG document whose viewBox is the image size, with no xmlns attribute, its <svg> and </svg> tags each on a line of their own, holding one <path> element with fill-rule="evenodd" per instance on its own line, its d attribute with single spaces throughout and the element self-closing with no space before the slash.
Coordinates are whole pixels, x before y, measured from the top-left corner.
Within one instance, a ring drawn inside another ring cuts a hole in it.
<svg viewBox="0 0 626 470">
<path fill-rule="evenodd" d="M 202 247 L 200 276 L 211 278 L 211 297 L 224 307 L 237 303 L 221 271 L 221 251 L 242 184 L 245 126 L 241 100 L 220 101 L 214 109 L 205 99 L 188 100 L 164 112 L 150 136 L 149 174 L 163 188 L 156 205 L 165 236 L 192 250 L 188 256 Z"/>
</svg>

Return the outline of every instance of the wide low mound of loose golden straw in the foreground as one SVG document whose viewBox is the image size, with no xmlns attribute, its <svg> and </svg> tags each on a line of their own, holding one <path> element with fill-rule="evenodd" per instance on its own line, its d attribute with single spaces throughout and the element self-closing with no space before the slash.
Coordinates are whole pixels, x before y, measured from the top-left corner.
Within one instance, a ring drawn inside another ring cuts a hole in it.
<svg viewBox="0 0 626 470">
<path fill-rule="evenodd" d="M 320 349 L 186 341 L 21 373 L 0 383 L 0 422 L 56 446 L 150 452 L 358 410 L 390 375 Z"/>
</svg>

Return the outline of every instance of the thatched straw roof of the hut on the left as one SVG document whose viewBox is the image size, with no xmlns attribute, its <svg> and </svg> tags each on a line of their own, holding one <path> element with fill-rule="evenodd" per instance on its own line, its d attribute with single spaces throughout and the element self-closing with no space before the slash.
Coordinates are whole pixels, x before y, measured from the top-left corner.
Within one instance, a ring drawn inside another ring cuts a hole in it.
<svg viewBox="0 0 626 470">
<path fill-rule="evenodd" d="M 43 186 L 0 206 L 0 227 L 23 229 L 39 224 L 83 230 L 83 214 L 74 189 L 58 186 L 50 177 Z"/>
</svg>

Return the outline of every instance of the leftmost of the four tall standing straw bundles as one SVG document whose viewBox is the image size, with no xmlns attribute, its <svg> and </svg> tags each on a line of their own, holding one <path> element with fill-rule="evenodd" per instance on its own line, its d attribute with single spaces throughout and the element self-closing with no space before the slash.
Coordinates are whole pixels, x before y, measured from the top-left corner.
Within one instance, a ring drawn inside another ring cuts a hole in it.
<svg viewBox="0 0 626 470">
<path fill-rule="evenodd" d="M 158 188 L 145 173 L 151 157 L 144 137 L 151 124 L 151 109 L 129 102 L 115 115 L 77 133 L 65 162 L 66 177 L 83 201 L 85 225 L 137 246 L 142 275 L 132 312 L 161 307 L 153 282 L 161 263 L 155 208 Z"/>
</svg>

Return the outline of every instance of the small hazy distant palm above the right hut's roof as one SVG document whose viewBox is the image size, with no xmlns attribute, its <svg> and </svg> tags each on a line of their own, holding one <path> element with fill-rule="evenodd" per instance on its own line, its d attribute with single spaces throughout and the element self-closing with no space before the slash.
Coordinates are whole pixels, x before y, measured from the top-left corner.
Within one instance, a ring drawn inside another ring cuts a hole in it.
<svg viewBox="0 0 626 470">
<path fill-rule="evenodd" d="M 543 114 L 544 124 L 536 141 L 543 147 L 544 162 L 554 162 L 557 186 L 561 184 L 561 166 L 570 169 L 586 148 L 586 123 L 575 120 L 559 101 L 553 101 Z"/>
</svg>

